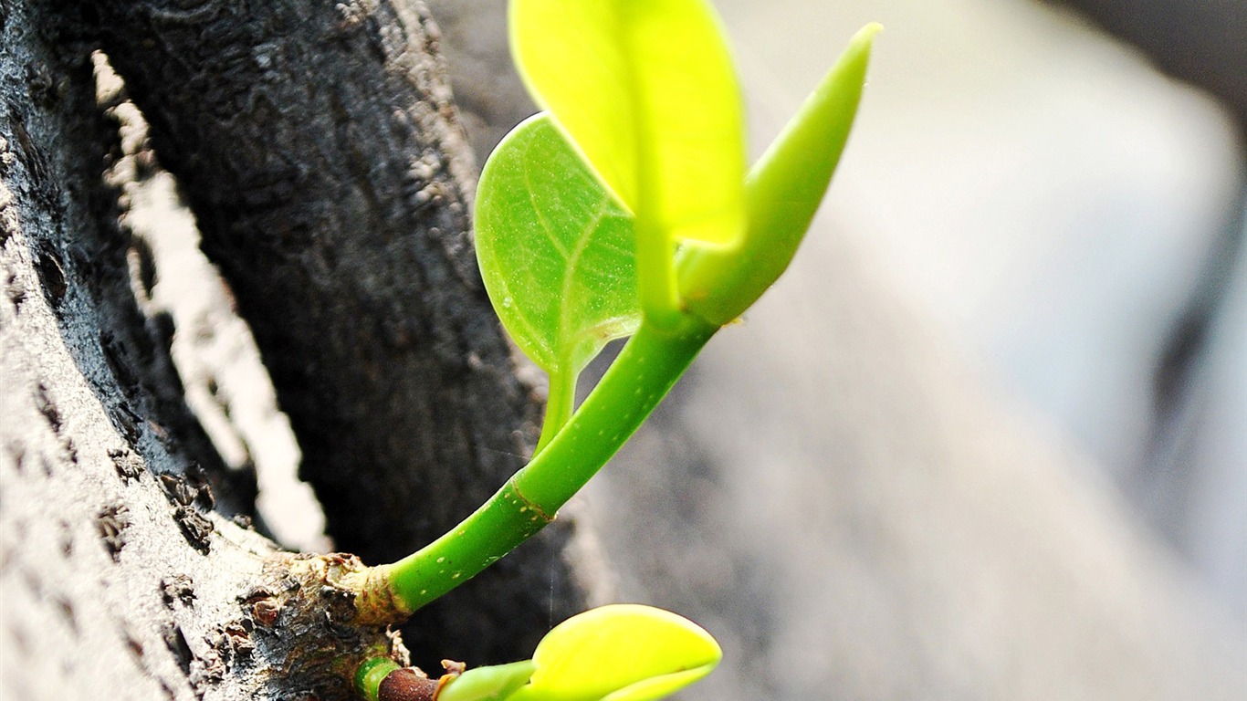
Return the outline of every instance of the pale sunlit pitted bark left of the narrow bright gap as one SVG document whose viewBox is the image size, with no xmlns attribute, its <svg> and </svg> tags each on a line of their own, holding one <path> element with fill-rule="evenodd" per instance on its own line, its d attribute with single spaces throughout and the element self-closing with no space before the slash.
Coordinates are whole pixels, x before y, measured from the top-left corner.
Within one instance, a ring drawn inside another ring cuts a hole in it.
<svg viewBox="0 0 1247 701">
<path fill-rule="evenodd" d="M 247 475 L 213 458 L 167 323 L 136 306 L 89 45 L 44 6 L 0 9 L 2 695 L 349 699 L 327 662 L 389 637 L 327 617 L 324 576 L 222 513 Z"/>
</svg>

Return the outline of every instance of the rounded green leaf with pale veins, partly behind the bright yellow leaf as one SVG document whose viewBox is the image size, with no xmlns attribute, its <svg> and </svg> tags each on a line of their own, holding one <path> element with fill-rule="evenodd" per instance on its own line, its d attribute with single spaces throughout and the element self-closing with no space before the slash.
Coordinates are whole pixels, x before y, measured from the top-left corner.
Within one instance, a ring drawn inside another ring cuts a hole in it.
<svg viewBox="0 0 1247 701">
<path fill-rule="evenodd" d="M 549 115 L 516 126 L 476 191 L 476 258 L 515 343 L 575 375 L 640 323 L 631 217 Z"/>
</svg>

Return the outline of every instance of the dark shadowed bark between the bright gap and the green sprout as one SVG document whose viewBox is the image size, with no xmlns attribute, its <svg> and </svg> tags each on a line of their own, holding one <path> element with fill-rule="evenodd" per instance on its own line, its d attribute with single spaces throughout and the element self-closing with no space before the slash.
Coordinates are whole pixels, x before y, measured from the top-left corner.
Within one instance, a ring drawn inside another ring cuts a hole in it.
<svg viewBox="0 0 1247 701">
<path fill-rule="evenodd" d="M 449 529 L 522 464 L 536 404 L 478 277 L 436 29 L 409 2 L 91 11 L 254 332 L 337 548 L 379 564 Z M 418 656 L 514 659 L 582 607 L 570 530 L 421 611 Z"/>
</svg>

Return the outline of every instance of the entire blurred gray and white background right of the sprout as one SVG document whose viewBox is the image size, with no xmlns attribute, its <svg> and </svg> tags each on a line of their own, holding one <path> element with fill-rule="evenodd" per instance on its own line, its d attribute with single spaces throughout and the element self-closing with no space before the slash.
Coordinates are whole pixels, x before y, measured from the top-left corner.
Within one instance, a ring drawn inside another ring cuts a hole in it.
<svg viewBox="0 0 1247 701">
<path fill-rule="evenodd" d="M 1247 696 L 1243 6 L 715 4 L 754 153 L 887 29 L 789 274 L 585 499 L 609 597 L 723 641 L 685 697 Z M 483 160 L 503 2 L 430 9 Z"/>
</svg>

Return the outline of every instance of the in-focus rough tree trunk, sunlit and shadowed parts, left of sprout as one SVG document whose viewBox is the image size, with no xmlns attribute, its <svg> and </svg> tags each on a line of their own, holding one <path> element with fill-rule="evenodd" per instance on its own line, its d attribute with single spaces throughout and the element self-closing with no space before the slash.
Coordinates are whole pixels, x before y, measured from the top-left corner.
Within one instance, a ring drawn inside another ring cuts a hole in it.
<svg viewBox="0 0 1247 701">
<path fill-rule="evenodd" d="M 423 9 L 193 5 L 0 2 L 0 664 L 15 697 L 349 697 L 334 664 L 405 654 L 334 619 L 324 566 L 354 560 L 282 554 L 249 529 L 253 475 L 187 409 L 176 329 L 136 304 L 153 273 L 105 183 L 122 153 L 92 51 L 180 178 L 339 548 L 372 564 L 412 551 L 493 493 L 534 433 L 539 405 L 476 277 L 471 161 Z M 519 659 L 584 607 L 562 521 L 421 611 L 407 629 L 420 660 Z"/>
</svg>

